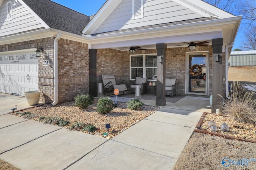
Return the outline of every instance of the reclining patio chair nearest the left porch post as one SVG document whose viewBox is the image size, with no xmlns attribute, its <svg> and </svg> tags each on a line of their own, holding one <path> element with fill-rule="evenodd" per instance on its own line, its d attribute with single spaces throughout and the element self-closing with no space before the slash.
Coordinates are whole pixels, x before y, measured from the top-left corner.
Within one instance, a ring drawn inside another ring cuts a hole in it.
<svg viewBox="0 0 256 170">
<path fill-rule="evenodd" d="M 123 94 L 124 91 L 127 90 L 124 81 L 116 84 L 116 77 L 114 74 L 102 75 L 102 83 L 104 86 L 104 95 L 107 91 L 110 94 L 110 92 L 113 92 L 113 90 L 116 88 L 119 90 L 119 92 L 123 92 Z"/>
</svg>

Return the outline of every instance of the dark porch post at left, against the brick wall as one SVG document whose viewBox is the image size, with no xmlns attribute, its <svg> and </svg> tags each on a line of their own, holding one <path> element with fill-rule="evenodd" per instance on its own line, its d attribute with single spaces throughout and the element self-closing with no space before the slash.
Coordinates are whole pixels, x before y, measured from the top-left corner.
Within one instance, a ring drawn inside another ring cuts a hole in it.
<svg viewBox="0 0 256 170">
<path fill-rule="evenodd" d="M 89 49 L 89 94 L 96 97 L 97 93 L 97 49 Z"/>
</svg>

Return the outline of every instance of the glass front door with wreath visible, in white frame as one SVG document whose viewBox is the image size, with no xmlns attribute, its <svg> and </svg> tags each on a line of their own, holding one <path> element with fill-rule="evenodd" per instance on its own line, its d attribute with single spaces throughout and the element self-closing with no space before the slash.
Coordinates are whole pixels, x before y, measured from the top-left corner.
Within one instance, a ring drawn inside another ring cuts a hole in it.
<svg viewBox="0 0 256 170">
<path fill-rule="evenodd" d="M 186 54 L 186 94 L 208 95 L 208 52 Z"/>
</svg>

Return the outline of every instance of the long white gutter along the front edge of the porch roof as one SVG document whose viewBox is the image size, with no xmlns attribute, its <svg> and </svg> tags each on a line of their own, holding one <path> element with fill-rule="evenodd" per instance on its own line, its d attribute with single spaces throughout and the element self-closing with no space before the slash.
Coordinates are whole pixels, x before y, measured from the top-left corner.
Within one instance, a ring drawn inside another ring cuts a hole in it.
<svg viewBox="0 0 256 170">
<path fill-rule="evenodd" d="M 149 33 L 154 31 L 154 33 L 160 33 L 163 31 L 173 31 L 173 30 L 182 30 L 182 29 L 192 29 L 192 28 L 200 28 L 200 27 L 206 27 L 206 26 L 214 26 L 214 25 L 226 25 L 233 23 L 235 24 L 236 21 L 242 20 L 242 16 L 236 16 L 232 18 L 221 18 L 216 20 L 208 20 L 208 21 L 199 21 L 194 23 L 184 23 L 179 25 L 170 25 L 166 27 L 157 27 L 157 28 L 149 28 L 149 29 L 143 29 L 143 30 L 136 30 L 136 31 L 127 31 L 127 32 L 121 32 L 121 33 L 112 33 L 112 34 L 105 34 L 105 35 L 96 35 L 96 36 L 87 36 L 84 35 L 84 37 L 88 40 L 97 40 L 97 39 L 108 39 L 108 38 L 115 38 L 115 37 L 122 37 L 122 36 L 132 36 L 132 35 L 138 35 Z"/>
</svg>

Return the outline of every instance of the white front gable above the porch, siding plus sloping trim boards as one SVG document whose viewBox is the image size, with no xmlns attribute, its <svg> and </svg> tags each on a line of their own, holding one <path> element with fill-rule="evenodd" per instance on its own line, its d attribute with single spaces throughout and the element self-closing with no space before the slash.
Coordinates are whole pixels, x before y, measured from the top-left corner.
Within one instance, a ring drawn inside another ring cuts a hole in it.
<svg viewBox="0 0 256 170">
<path fill-rule="evenodd" d="M 108 0 L 96 13 L 94 18 L 92 18 L 92 20 L 86 25 L 82 32 L 85 35 L 92 35 L 95 33 L 138 27 L 137 25 L 140 25 L 140 27 L 153 25 L 152 23 L 155 25 L 169 22 L 174 23 L 175 21 L 194 20 L 198 18 L 214 17 L 214 19 L 216 19 L 234 17 L 234 15 L 212 6 L 202 0 L 156 0 L 154 2 L 155 4 L 152 4 L 153 2 L 144 2 L 144 5 L 147 3 L 148 5 L 144 8 L 151 8 L 151 10 L 154 10 L 154 12 L 156 10 L 158 10 L 158 12 L 153 14 L 152 11 L 148 11 L 147 14 L 150 13 L 148 18 L 150 19 L 147 20 L 146 17 L 144 17 L 138 21 L 132 20 L 132 14 L 128 13 L 128 10 L 132 11 L 132 0 Z M 162 10 L 160 6 L 162 7 Z M 124 15 L 120 16 L 122 12 Z M 160 19 L 160 15 L 162 16 L 162 20 Z M 118 20 L 118 18 L 120 19 Z M 169 19 L 163 22 L 164 18 Z M 145 22 L 142 23 L 142 20 L 145 20 Z M 140 24 L 138 24 L 138 22 Z"/>
</svg>

